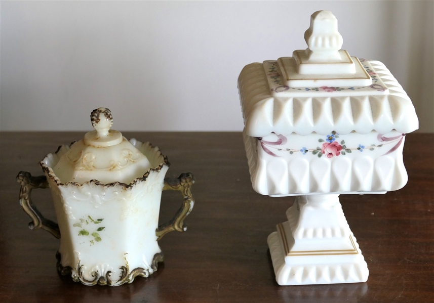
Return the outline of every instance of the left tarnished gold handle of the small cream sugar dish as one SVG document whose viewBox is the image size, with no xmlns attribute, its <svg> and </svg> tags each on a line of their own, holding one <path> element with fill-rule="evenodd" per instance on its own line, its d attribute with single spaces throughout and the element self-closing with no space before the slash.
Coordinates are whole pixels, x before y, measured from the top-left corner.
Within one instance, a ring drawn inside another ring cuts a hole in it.
<svg viewBox="0 0 434 303">
<path fill-rule="evenodd" d="M 17 176 L 17 182 L 21 184 L 20 189 L 20 205 L 24 211 L 32 219 L 29 223 L 29 229 L 42 228 L 50 232 L 57 239 L 60 239 L 59 225 L 49 219 L 45 219 L 42 213 L 37 210 L 36 206 L 31 202 L 31 191 L 34 188 L 48 188 L 47 177 L 38 176 L 32 177 L 30 172 L 20 171 Z"/>
</svg>

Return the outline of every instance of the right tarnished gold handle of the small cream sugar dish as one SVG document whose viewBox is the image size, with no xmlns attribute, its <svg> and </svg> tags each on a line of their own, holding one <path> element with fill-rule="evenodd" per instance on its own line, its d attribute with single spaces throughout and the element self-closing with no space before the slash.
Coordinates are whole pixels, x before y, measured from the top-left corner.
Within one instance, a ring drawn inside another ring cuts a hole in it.
<svg viewBox="0 0 434 303">
<path fill-rule="evenodd" d="M 190 187 L 194 184 L 194 177 L 191 172 L 181 174 L 178 178 L 166 178 L 164 179 L 163 190 L 179 190 L 184 197 L 181 208 L 175 214 L 172 220 L 159 225 L 155 230 L 155 234 L 158 237 L 157 241 L 163 238 L 165 234 L 171 231 L 185 232 L 187 225 L 184 224 L 184 219 L 191 212 L 194 206 L 194 199 L 191 195 Z"/>
</svg>

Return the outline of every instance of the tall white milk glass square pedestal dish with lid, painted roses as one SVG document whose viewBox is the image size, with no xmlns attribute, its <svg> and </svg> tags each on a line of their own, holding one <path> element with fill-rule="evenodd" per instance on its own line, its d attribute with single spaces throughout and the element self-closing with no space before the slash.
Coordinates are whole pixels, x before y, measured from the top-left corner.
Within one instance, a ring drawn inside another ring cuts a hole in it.
<svg viewBox="0 0 434 303">
<path fill-rule="evenodd" d="M 296 196 L 268 236 L 280 285 L 364 282 L 338 196 L 404 187 L 403 144 L 418 119 L 384 64 L 341 50 L 331 12 L 315 12 L 304 38 L 306 50 L 240 74 L 251 180 L 260 194 Z"/>
</svg>

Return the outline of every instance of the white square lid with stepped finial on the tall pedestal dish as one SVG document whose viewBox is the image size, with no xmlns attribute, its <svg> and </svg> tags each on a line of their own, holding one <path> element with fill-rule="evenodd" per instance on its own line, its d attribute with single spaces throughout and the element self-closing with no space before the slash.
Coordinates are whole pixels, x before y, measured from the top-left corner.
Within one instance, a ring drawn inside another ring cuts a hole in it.
<svg viewBox="0 0 434 303">
<path fill-rule="evenodd" d="M 238 79 L 248 136 L 332 131 L 407 134 L 418 128 L 414 106 L 378 61 L 351 57 L 329 11 L 312 14 L 308 48 L 244 67 Z"/>
</svg>

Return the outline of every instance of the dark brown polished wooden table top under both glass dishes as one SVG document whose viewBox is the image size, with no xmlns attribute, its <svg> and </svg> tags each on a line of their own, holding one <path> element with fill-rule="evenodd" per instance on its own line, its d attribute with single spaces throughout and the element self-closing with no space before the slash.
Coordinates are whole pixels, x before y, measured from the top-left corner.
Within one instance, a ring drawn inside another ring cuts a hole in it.
<svg viewBox="0 0 434 303">
<path fill-rule="evenodd" d="M 148 278 L 119 287 L 85 286 L 59 277 L 59 240 L 31 231 L 18 201 L 20 170 L 84 133 L 1 133 L 0 301 L 6 302 L 430 302 L 434 300 L 434 136 L 409 134 L 404 163 L 409 182 L 385 195 L 341 195 L 348 224 L 369 268 L 366 283 L 279 286 L 267 236 L 286 221 L 293 198 L 253 191 L 241 133 L 131 133 L 169 157 L 167 176 L 192 171 L 196 200 L 188 231 L 169 233 L 165 261 Z M 33 202 L 55 220 L 49 190 Z M 179 193 L 165 192 L 160 221 L 172 218 Z"/>
</svg>

